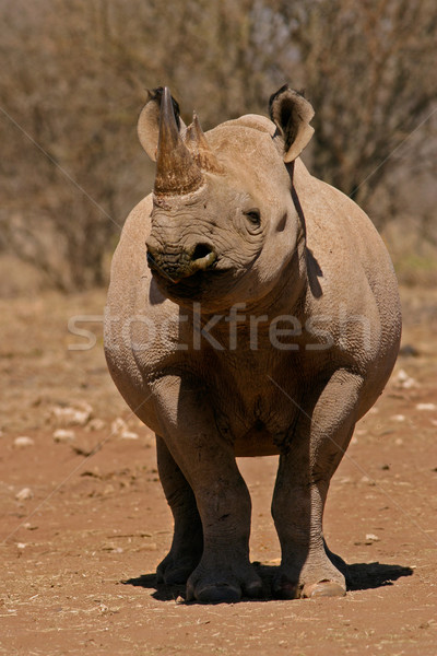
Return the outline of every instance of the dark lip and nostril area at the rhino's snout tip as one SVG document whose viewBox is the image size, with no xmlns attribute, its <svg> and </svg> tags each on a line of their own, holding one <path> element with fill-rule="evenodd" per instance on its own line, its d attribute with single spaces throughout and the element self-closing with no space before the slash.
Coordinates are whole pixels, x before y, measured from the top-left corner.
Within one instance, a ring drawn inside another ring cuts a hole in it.
<svg viewBox="0 0 437 656">
<path fill-rule="evenodd" d="M 217 259 L 213 246 L 203 242 L 190 248 L 162 248 L 155 246 L 152 241 L 147 241 L 146 246 L 149 267 L 153 272 L 173 282 L 209 269 Z"/>
</svg>

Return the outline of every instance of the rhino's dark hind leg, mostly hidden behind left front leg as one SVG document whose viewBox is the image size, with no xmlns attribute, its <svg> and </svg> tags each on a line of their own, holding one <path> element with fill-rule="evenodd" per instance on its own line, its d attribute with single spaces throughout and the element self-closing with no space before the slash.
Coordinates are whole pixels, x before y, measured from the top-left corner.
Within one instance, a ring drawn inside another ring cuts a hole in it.
<svg viewBox="0 0 437 656">
<path fill-rule="evenodd" d="M 157 581 L 182 584 L 187 582 L 202 555 L 202 523 L 194 494 L 164 440 L 158 435 L 156 453 L 160 479 L 175 522 L 172 548 L 157 566 Z"/>
</svg>

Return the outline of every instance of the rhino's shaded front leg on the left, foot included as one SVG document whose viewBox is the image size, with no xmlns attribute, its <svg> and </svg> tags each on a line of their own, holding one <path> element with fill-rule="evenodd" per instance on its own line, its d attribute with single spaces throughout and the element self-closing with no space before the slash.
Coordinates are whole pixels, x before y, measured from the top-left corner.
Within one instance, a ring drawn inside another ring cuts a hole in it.
<svg viewBox="0 0 437 656">
<path fill-rule="evenodd" d="M 203 552 L 188 578 L 187 600 L 217 604 L 260 596 L 262 583 L 249 561 L 251 502 L 232 442 L 218 433 L 196 380 L 164 379 L 156 398 L 164 440 L 192 489 L 203 528 Z"/>
</svg>

